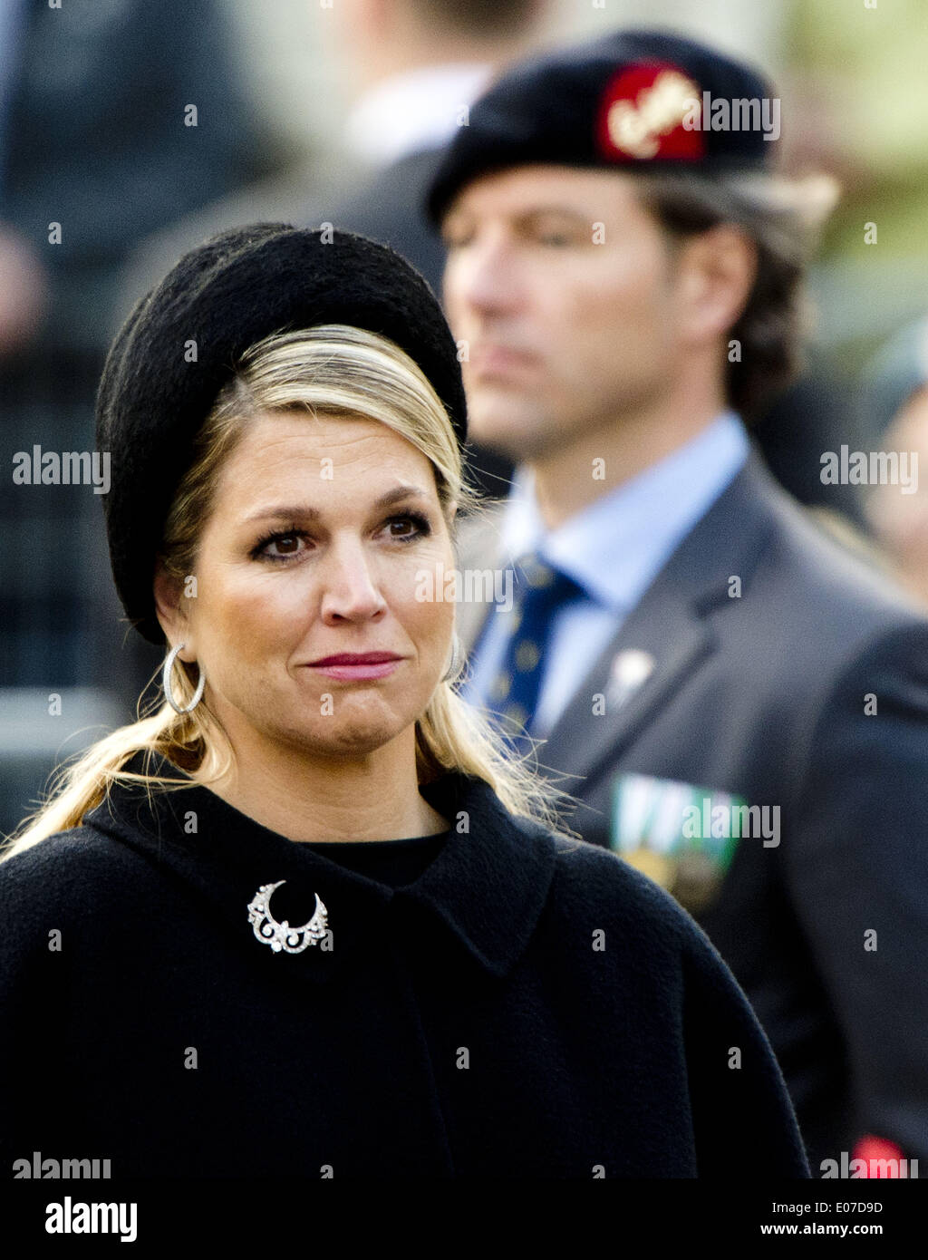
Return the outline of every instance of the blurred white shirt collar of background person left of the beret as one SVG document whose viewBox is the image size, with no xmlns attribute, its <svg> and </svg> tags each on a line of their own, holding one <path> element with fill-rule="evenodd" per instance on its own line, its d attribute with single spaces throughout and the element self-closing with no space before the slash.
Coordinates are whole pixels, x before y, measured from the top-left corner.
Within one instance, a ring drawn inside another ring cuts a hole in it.
<svg viewBox="0 0 928 1260">
<path fill-rule="evenodd" d="M 423 149 L 441 149 L 492 76 L 482 62 L 423 66 L 376 83 L 345 123 L 345 144 L 374 165 L 399 161 Z"/>
</svg>

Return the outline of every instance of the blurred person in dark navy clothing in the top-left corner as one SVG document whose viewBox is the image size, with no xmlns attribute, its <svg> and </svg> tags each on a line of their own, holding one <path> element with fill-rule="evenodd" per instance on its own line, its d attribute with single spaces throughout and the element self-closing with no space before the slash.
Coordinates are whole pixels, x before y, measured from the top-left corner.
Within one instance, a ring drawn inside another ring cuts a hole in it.
<svg viewBox="0 0 928 1260">
<path fill-rule="evenodd" d="M 101 357 L 117 268 L 144 236 L 262 166 L 257 120 L 217 0 L 4 6 L 0 260 L 37 314 L 9 344 Z M 121 67 L 113 74 L 113 66 Z M 60 226 L 59 241 L 52 223 Z M 37 275 L 38 273 L 38 275 Z M 38 278 L 42 277 L 42 278 Z M 97 375 L 99 374 L 97 363 Z"/>
</svg>

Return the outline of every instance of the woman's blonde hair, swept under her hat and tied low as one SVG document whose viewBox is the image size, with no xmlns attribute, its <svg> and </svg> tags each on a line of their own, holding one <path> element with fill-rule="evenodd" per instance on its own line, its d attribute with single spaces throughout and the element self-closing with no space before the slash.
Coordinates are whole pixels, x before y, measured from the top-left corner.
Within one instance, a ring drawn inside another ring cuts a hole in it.
<svg viewBox="0 0 928 1260">
<path fill-rule="evenodd" d="M 181 587 L 195 570 L 219 470 L 246 426 L 261 413 L 295 410 L 380 421 L 431 461 L 450 527 L 456 510 L 478 510 L 477 496 L 463 480 L 461 450 L 444 407 L 409 355 L 387 338 L 341 324 L 278 333 L 242 357 L 196 436 L 194 459 L 167 513 L 160 549 L 167 575 Z M 455 682 L 442 680 L 417 719 L 419 784 L 448 770 L 473 775 L 492 788 L 510 813 L 569 834 L 558 813 L 563 794 L 510 752 L 487 718 L 456 693 Z M 175 672 L 174 694 L 181 707 L 193 698 L 194 682 L 186 665 Z M 79 827 L 113 784 L 142 784 L 149 793 L 189 786 L 189 777 L 167 777 L 152 770 L 159 755 L 205 785 L 225 774 L 233 750 L 205 698 L 186 714 L 176 713 L 161 697 L 147 706 L 144 698 L 145 692 L 139 721 L 59 767 L 45 801 L 9 837 L 0 862 Z M 142 716 L 146 708 L 151 712 Z M 137 753 L 145 755 L 142 772 L 125 770 Z"/>
</svg>

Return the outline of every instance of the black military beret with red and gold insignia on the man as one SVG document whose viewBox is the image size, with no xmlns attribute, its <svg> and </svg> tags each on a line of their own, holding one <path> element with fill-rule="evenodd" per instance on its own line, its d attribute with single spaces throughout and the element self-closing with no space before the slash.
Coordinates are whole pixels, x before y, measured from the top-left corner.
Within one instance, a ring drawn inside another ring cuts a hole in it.
<svg viewBox="0 0 928 1260">
<path fill-rule="evenodd" d="M 531 163 L 764 169 L 778 135 L 779 100 L 755 71 L 666 32 L 616 32 L 505 72 L 458 129 L 426 208 L 438 224 L 465 184 Z"/>
</svg>

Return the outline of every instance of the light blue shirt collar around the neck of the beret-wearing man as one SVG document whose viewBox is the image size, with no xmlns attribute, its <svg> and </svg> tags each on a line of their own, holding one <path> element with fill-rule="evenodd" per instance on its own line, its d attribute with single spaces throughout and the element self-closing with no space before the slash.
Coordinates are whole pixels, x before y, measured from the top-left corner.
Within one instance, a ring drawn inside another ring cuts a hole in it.
<svg viewBox="0 0 928 1260">
<path fill-rule="evenodd" d="M 725 411 L 684 446 L 548 530 L 534 476 L 516 471 L 501 538 L 509 562 L 538 551 L 604 607 L 625 615 L 748 457 L 739 417 Z"/>
</svg>

